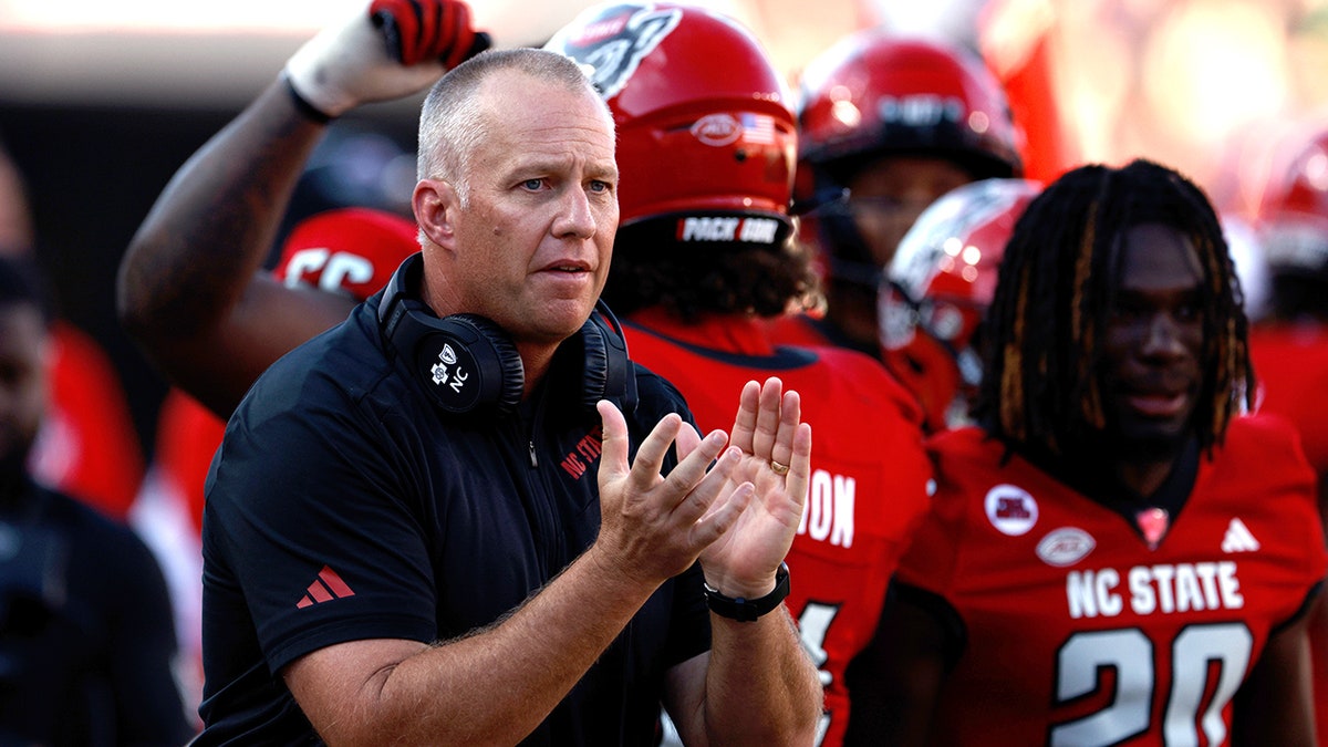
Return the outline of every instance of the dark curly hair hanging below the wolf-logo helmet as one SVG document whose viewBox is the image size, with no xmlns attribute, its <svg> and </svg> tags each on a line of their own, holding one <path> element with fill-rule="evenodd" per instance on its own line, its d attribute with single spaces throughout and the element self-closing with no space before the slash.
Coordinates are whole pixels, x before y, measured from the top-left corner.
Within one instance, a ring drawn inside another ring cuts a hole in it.
<svg viewBox="0 0 1328 747">
<path fill-rule="evenodd" d="M 663 307 L 684 323 L 704 314 L 784 314 L 815 288 L 805 247 L 790 235 L 776 245 L 681 243 L 656 221 L 622 226 L 600 294 L 622 315 Z"/>
</svg>

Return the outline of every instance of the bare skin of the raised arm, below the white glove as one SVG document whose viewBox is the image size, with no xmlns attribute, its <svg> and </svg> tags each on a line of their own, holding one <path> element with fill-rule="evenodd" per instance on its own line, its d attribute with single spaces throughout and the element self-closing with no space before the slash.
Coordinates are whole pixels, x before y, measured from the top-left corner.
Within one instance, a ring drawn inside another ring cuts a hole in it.
<svg viewBox="0 0 1328 747">
<path fill-rule="evenodd" d="M 349 300 L 259 275 L 325 125 L 276 84 L 175 174 L 121 263 L 121 323 L 171 383 L 226 417 L 286 351 L 345 318 Z"/>
</svg>

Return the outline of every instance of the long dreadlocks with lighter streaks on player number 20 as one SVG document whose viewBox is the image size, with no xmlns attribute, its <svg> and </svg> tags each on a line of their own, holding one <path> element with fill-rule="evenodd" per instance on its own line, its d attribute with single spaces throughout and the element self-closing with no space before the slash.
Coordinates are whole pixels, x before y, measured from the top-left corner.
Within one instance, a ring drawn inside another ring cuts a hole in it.
<svg viewBox="0 0 1328 747">
<path fill-rule="evenodd" d="M 1121 239 L 1139 223 L 1189 237 L 1202 266 L 1201 447 L 1219 444 L 1230 420 L 1252 407 L 1243 299 L 1207 197 L 1150 161 L 1088 165 L 1029 203 L 1000 263 L 973 413 L 1008 447 L 1065 455 L 1106 427 L 1100 340 L 1120 284 Z"/>
</svg>

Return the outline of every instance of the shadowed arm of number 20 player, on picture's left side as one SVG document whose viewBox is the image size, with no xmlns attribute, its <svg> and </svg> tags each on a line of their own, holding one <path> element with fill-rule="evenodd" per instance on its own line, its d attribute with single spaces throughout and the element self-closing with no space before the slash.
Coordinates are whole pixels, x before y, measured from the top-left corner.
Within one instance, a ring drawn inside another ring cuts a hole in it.
<svg viewBox="0 0 1328 747">
<path fill-rule="evenodd" d="M 845 747 L 926 744 L 961 639 L 957 615 L 944 601 L 891 584 L 876 633 L 845 671 Z"/>
</svg>

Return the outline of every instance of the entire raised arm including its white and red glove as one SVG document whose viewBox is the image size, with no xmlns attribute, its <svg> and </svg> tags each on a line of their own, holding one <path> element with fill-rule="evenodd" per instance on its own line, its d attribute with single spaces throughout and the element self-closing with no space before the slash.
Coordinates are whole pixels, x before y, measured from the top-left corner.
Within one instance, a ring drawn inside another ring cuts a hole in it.
<svg viewBox="0 0 1328 747">
<path fill-rule="evenodd" d="M 259 274 L 328 121 L 409 96 L 487 45 L 459 0 L 374 0 L 320 32 L 158 197 L 121 262 L 121 323 L 173 383 L 222 416 L 276 358 L 349 302 Z"/>
</svg>

